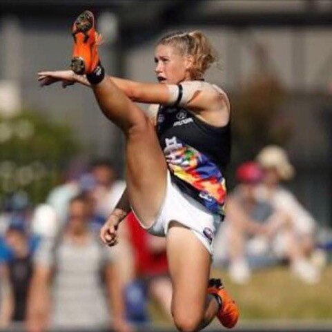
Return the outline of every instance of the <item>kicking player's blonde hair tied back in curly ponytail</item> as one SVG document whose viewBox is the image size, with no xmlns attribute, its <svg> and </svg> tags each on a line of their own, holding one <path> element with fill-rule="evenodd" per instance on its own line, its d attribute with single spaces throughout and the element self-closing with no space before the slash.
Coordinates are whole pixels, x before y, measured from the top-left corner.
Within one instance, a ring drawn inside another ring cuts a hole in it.
<svg viewBox="0 0 332 332">
<path fill-rule="evenodd" d="M 191 77 L 193 79 L 202 78 L 211 64 L 217 61 L 217 54 L 211 46 L 210 41 L 199 30 L 192 32 L 170 32 L 159 39 L 158 45 L 173 46 L 182 55 L 191 55 L 193 57 Z"/>
</svg>

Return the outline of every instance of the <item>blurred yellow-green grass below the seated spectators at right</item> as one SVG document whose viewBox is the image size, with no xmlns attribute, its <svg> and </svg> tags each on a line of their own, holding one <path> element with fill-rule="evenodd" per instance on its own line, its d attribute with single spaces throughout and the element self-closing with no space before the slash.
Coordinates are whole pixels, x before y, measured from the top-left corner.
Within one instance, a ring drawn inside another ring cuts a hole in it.
<svg viewBox="0 0 332 332">
<path fill-rule="evenodd" d="M 241 320 L 332 320 L 332 266 L 324 268 L 322 280 L 306 285 L 297 280 L 286 266 L 255 271 L 245 286 L 232 284 L 226 271 L 213 271 L 223 277 L 226 289 L 240 306 Z M 193 285 L 195 286 L 195 285 Z M 157 322 L 166 322 L 150 306 Z"/>
</svg>

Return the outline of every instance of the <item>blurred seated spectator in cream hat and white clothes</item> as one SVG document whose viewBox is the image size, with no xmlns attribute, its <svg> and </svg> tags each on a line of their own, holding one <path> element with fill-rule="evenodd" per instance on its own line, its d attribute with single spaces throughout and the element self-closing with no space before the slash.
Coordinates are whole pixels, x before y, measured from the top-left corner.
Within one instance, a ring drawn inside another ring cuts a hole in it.
<svg viewBox="0 0 332 332">
<path fill-rule="evenodd" d="M 286 251 L 295 275 L 306 283 L 314 284 L 319 281 L 320 273 L 308 257 L 314 248 L 315 220 L 295 196 L 280 185 L 295 175 L 289 157 L 283 148 L 271 145 L 263 148 L 256 160 L 263 170 L 262 185 L 257 188 L 257 197 L 289 216 L 288 227 L 280 232 L 280 255 Z"/>
</svg>

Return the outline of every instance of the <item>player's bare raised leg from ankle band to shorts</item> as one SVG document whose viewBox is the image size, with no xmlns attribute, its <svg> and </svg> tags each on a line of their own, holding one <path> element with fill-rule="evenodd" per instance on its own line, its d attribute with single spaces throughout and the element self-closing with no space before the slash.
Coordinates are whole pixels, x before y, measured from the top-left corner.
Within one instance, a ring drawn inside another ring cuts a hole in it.
<svg viewBox="0 0 332 332">
<path fill-rule="evenodd" d="M 106 78 L 93 86 L 104 115 L 126 137 L 126 182 L 130 204 L 150 226 L 166 193 L 167 166 L 155 127 L 133 101 Z"/>
</svg>

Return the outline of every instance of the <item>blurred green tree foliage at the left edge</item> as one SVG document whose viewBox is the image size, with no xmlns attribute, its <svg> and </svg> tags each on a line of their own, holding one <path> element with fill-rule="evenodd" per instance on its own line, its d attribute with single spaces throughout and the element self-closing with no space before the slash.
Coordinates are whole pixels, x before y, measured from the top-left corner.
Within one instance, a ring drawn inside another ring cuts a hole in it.
<svg viewBox="0 0 332 332">
<path fill-rule="evenodd" d="M 32 203 L 43 202 L 78 151 L 69 126 L 30 111 L 0 116 L 0 207 L 16 191 L 28 193 Z"/>
</svg>

